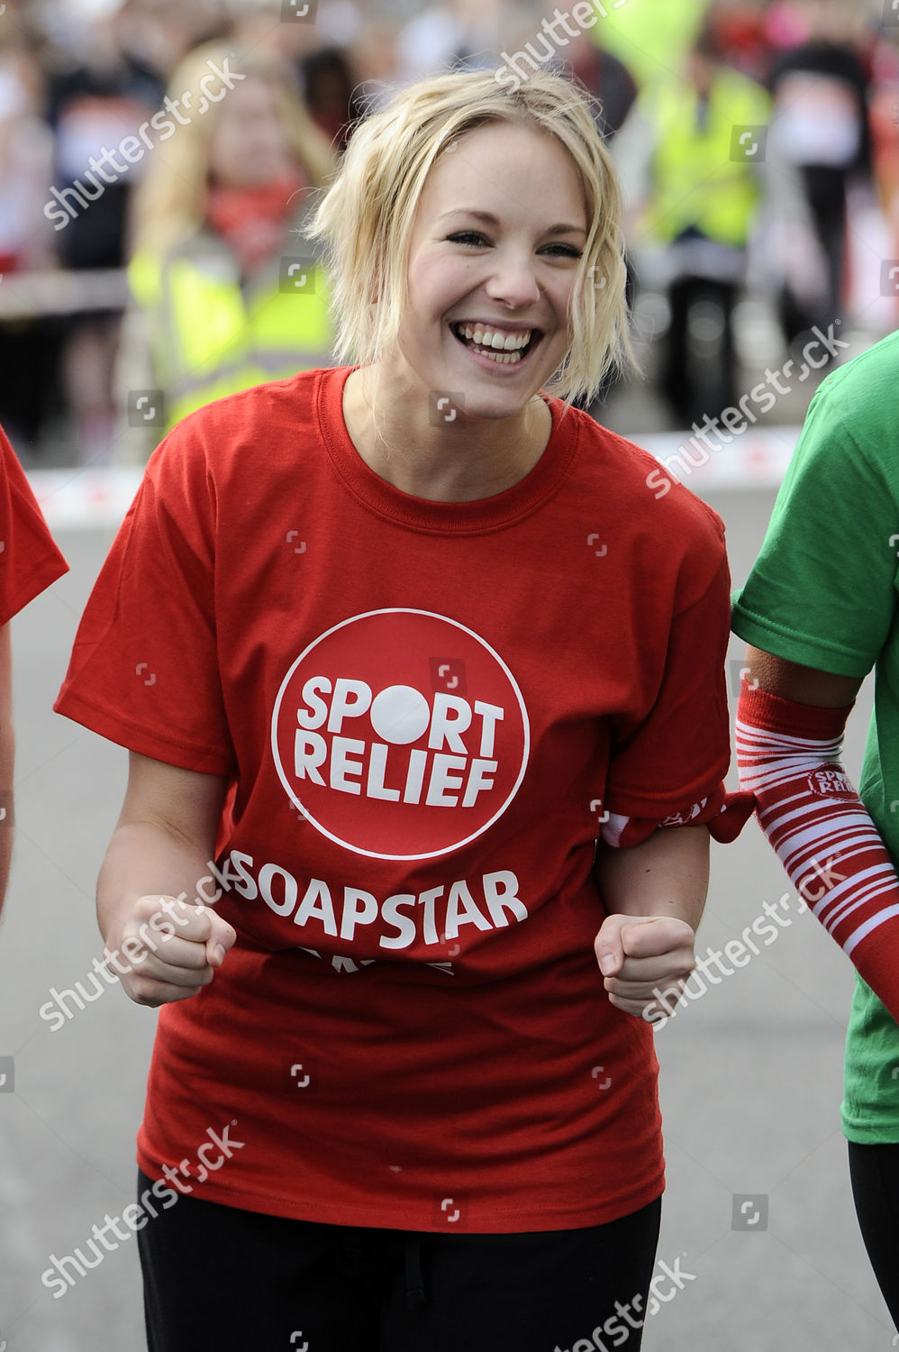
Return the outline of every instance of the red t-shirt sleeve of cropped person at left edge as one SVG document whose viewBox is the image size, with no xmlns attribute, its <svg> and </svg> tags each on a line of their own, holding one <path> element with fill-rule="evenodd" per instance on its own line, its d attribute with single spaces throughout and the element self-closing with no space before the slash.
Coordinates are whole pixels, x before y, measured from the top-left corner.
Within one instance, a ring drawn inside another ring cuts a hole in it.
<svg viewBox="0 0 899 1352">
<path fill-rule="evenodd" d="M 8 623 L 69 565 L 47 530 L 19 458 L 0 431 L 0 625 Z"/>
</svg>

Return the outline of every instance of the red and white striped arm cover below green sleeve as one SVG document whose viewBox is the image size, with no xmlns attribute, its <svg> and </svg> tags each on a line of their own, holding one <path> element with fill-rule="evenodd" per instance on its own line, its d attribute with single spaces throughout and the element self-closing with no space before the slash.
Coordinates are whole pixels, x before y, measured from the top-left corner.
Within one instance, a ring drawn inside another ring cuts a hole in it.
<svg viewBox="0 0 899 1352">
<path fill-rule="evenodd" d="M 899 1019 L 899 880 L 840 764 L 850 708 L 798 704 L 744 680 L 739 784 L 800 896 Z"/>
</svg>

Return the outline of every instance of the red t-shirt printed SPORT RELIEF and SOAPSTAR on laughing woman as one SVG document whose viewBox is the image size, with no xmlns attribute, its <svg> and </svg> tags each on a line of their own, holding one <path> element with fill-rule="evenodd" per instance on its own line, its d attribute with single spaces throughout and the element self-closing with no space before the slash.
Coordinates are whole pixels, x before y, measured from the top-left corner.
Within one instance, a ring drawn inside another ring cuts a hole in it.
<svg viewBox="0 0 899 1352">
<path fill-rule="evenodd" d="M 592 950 L 595 841 L 604 808 L 664 818 L 727 769 L 722 523 L 558 402 L 512 488 L 412 498 L 356 452 L 346 375 L 166 438 L 57 703 L 233 776 L 238 942 L 161 1011 L 139 1161 L 339 1225 L 611 1221 L 662 1155 L 652 1030 Z"/>
</svg>

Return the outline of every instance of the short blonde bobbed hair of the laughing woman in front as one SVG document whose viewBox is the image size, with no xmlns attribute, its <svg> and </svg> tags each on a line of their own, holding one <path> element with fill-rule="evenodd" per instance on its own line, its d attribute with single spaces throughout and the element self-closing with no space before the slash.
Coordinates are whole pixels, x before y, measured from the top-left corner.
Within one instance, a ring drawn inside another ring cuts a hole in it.
<svg viewBox="0 0 899 1352">
<path fill-rule="evenodd" d="M 419 197 L 442 154 L 477 127 L 514 123 L 554 137 L 577 169 L 588 235 L 569 308 L 570 347 L 549 383 L 564 399 L 595 397 L 612 368 L 633 364 L 625 300 L 622 200 L 589 96 L 535 73 L 510 91 L 500 72 L 435 76 L 400 91 L 362 122 L 307 228 L 331 253 L 339 360 L 377 361 L 399 330 Z"/>
</svg>

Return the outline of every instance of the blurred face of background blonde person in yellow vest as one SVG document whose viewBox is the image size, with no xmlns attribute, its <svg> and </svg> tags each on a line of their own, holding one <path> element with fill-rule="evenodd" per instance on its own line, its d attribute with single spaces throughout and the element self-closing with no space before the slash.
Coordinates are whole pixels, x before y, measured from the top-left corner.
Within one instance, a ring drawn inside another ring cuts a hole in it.
<svg viewBox="0 0 899 1352">
<path fill-rule="evenodd" d="M 287 173 L 291 149 L 269 85 L 247 76 L 215 112 L 210 176 L 227 188 L 256 188 Z"/>
</svg>

